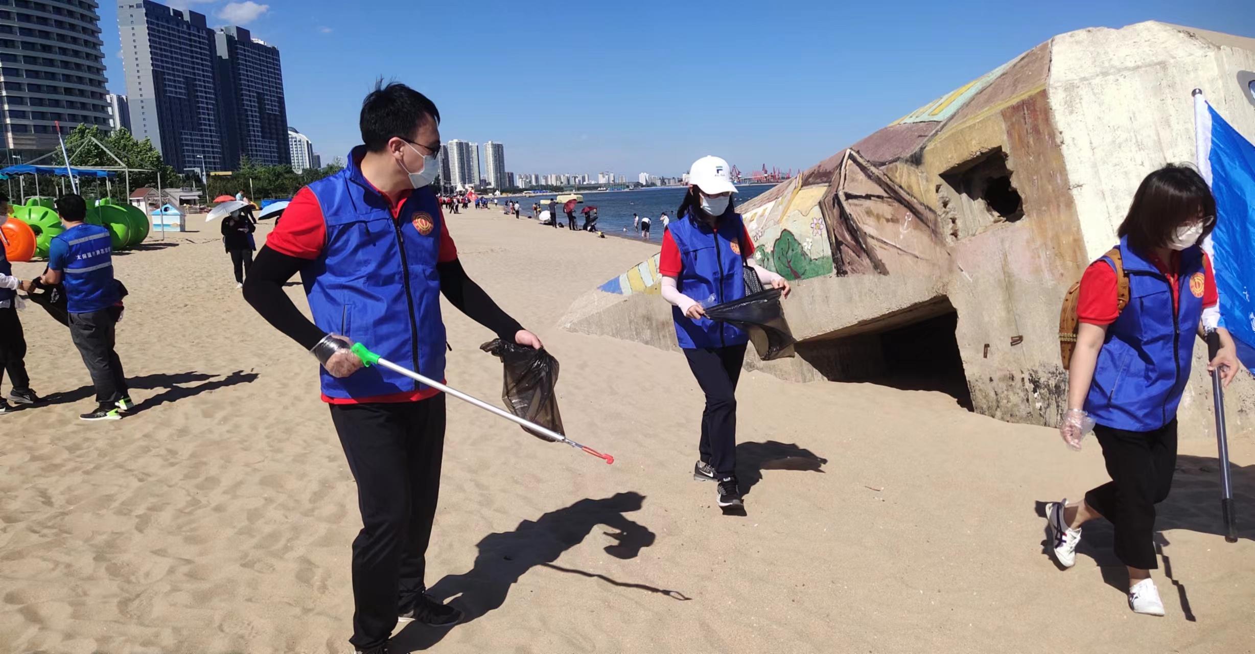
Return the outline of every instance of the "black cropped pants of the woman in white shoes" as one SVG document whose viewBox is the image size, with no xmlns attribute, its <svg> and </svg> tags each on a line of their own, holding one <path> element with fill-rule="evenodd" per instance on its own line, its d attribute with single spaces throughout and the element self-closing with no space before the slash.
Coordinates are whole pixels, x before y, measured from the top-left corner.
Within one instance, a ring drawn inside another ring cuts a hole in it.
<svg viewBox="0 0 1255 654">
<path fill-rule="evenodd" d="M 1155 505 L 1172 488 L 1176 428 L 1176 418 L 1153 432 L 1094 427 L 1111 481 L 1087 492 L 1086 502 L 1116 526 L 1116 557 L 1130 567 L 1158 567 Z"/>
</svg>

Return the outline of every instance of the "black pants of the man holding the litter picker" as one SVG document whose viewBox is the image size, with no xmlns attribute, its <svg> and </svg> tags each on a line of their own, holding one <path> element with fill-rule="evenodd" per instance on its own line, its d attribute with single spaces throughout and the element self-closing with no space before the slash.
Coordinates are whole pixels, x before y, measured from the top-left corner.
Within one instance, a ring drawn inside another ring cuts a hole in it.
<svg viewBox="0 0 1255 654">
<path fill-rule="evenodd" d="M 444 395 L 397 404 L 333 404 L 358 482 L 361 531 L 353 541 L 353 638 L 366 650 L 388 640 L 423 582 L 444 452 Z"/>
</svg>

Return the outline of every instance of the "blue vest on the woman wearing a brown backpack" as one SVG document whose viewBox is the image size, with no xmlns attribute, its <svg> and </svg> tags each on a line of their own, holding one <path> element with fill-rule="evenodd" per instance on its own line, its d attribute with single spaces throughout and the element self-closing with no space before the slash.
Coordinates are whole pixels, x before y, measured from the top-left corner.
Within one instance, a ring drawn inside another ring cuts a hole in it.
<svg viewBox="0 0 1255 654">
<path fill-rule="evenodd" d="M 1190 380 L 1202 319 L 1202 250 L 1194 246 L 1181 252 L 1175 315 L 1167 277 L 1130 249 L 1127 240 L 1121 239 L 1119 250 L 1128 274 L 1128 306 L 1107 326 L 1086 412 L 1106 427 L 1150 432 L 1176 417 Z M 1107 257 L 1103 261 L 1111 265 Z"/>
</svg>

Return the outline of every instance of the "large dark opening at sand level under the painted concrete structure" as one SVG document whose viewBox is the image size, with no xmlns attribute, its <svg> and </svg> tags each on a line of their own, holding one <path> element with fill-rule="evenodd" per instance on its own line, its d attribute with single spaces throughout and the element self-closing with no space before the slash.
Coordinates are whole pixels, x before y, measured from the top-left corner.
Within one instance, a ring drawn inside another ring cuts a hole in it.
<svg viewBox="0 0 1255 654">
<path fill-rule="evenodd" d="M 939 298 L 865 325 L 858 334 L 797 344 L 797 354 L 833 382 L 935 390 L 971 410 L 955 339 L 959 314 Z"/>
</svg>

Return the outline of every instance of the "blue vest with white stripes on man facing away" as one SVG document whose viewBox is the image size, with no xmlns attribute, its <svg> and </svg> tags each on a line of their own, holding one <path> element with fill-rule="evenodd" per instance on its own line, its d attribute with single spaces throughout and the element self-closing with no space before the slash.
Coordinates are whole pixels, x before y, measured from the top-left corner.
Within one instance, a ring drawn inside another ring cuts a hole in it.
<svg viewBox="0 0 1255 654">
<path fill-rule="evenodd" d="M 118 300 L 113 281 L 113 246 L 109 230 L 99 225 L 75 225 L 53 237 L 65 245 L 61 270 L 65 310 L 72 314 L 102 311 Z"/>
</svg>

